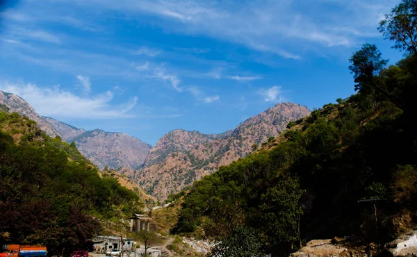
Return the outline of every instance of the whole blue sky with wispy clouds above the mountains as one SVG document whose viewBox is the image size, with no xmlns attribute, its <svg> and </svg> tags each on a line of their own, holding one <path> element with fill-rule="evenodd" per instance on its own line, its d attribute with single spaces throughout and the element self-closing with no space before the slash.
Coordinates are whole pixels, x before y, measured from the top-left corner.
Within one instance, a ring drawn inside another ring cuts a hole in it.
<svg viewBox="0 0 417 257">
<path fill-rule="evenodd" d="M 24 0 L 0 9 L 0 90 L 149 144 L 222 133 L 279 102 L 354 94 L 348 59 L 398 0 Z"/>
</svg>

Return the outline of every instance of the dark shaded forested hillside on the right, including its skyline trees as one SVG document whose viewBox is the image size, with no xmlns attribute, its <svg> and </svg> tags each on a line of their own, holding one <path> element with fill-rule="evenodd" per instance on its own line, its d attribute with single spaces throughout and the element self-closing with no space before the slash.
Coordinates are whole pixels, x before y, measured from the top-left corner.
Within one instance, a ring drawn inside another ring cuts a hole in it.
<svg viewBox="0 0 417 257">
<path fill-rule="evenodd" d="M 403 60 L 387 67 L 364 44 L 350 59 L 357 94 L 195 182 L 174 231 L 204 229 L 222 241 L 213 256 L 259 256 L 336 235 L 383 243 L 415 227 L 416 17 L 416 1 L 402 1 L 379 28 Z"/>
</svg>

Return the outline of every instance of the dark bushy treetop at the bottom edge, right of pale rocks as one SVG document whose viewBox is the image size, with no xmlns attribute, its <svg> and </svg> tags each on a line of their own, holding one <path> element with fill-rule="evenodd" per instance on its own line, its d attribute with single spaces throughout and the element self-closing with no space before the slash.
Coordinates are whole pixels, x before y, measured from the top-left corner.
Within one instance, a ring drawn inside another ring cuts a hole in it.
<svg viewBox="0 0 417 257">
<path fill-rule="evenodd" d="M 260 249 L 259 235 L 253 229 L 240 226 L 216 244 L 208 257 L 256 257 L 261 256 Z"/>
</svg>

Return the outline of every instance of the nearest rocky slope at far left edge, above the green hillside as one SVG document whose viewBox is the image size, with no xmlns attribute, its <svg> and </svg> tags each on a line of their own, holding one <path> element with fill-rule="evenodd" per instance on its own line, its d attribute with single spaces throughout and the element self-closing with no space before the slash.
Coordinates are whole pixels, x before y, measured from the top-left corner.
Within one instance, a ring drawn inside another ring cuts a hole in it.
<svg viewBox="0 0 417 257">
<path fill-rule="evenodd" d="M 33 110 L 32 106 L 27 101 L 17 96 L 16 94 L 3 92 L 0 90 L 0 103 L 6 105 L 10 109 L 10 112 L 19 113 L 20 115 L 24 115 L 35 121 L 36 124 L 38 124 L 38 127 L 52 138 L 56 137 L 57 135 L 62 138 L 62 135 L 60 135 L 58 130 L 52 126 L 52 124 L 44 119 L 44 117 L 38 115 L 38 113 Z"/>
</svg>

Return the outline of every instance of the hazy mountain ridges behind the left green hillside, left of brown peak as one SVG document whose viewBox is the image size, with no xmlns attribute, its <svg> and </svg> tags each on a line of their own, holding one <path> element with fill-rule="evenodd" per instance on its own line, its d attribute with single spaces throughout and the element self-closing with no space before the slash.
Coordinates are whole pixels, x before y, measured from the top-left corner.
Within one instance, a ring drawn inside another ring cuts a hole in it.
<svg viewBox="0 0 417 257">
<path fill-rule="evenodd" d="M 101 169 L 106 165 L 113 169 L 142 167 L 152 147 L 124 133 L 105 132 L 99 129 L 85 131 L 51 117 L 42 117 L 27 101 L 15 94 L 0 91 L 0 103 L 7 106 L 10 112 L 33 119 L 47 135 L 51 137 L 59 135 L 67 142 L 74 141 L 81 154 Z"/>
</svg>

